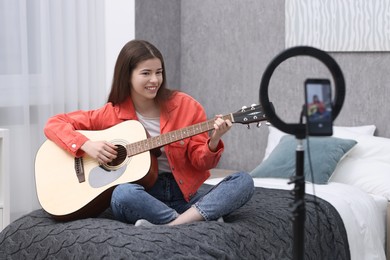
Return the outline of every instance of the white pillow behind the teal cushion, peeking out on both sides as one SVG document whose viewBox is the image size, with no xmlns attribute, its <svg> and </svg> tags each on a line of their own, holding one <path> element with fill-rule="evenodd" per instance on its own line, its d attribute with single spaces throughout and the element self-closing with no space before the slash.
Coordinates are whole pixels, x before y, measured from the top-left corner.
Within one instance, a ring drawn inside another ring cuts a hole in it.
<svg viewBox="0 0 390 260">
<path fill-rule="evenodd" d="M 355 137 L 361 135 L 373 136 L 375 132 L 375 125 L 364 125 L 364 126 L 334 126 L 333 136 L 344 139 L 355 139 Z M 286 133 L 279 129 L 269 126 L 268 127 L 268 143 L 265 148 L 265 154 L 263 161 L 268 158 L 273 149 L 278 145 L 280 139 L 286 135 Z"/>
</svg>

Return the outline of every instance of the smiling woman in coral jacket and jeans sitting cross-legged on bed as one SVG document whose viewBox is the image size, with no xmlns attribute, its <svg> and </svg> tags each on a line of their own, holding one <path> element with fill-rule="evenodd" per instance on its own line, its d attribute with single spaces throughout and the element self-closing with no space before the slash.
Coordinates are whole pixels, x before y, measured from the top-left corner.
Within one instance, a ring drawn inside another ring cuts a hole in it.
<svg viewBox="0 0 390 260">
<path fill-rule="evenodd" d="M 168 89 L 165 78 L 160 51 L 149 42 L 130 41 L 119 53 L 107 104 L 96 110 L 53 116 L 45 134 L 74 157 L 87 155 L 104 165 L 120 156 L 118 145 L 106 139 L 92 140 L 79 130 L 99 131 L 133 120 L 154 137 L 205 122 L 201 104 L 185 93 Z M 123 182 L 112 187 L 110 206 L 116 219 L 136 225 L 176 225 L 221 219 L 244 205 L 254 190 L 247 173 L 234 173 L 207 193 L 199 191 L 221 158 L 221 137 L 231 126 L 230 120 L 217 115 L 210 134 L 202 132 L 157 145 L 159 151 L 150 151 L 152 165 L 147 165 L 147 169 L 156 169 L 153 183 Z M 126 132 L 135 134 L 131 129 Z M 137 161 L 136 156 L 133 161 Z"/>
</svg>

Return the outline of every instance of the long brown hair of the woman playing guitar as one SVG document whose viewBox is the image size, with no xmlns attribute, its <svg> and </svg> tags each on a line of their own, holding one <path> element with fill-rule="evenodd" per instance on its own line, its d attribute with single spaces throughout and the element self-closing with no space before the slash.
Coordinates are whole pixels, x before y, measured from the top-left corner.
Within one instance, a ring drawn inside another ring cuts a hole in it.
<svg viewBox="0 0 390 260">
<path fill-rule="evenodd" d="M 153 58 L 158 58 L 161 61 L 163 69 L 163 82 L 155 98 L 156 103 L 163 104 L 173 93 L 166 86 L 164 58 L 153 44 L 143 40 L 129 41 L 120 51 L 116 60 L 111 91 L 107 102 L 116 105 L 131 96 L 130 77 L 133 70 L 140 62 Z"/>
</svg>

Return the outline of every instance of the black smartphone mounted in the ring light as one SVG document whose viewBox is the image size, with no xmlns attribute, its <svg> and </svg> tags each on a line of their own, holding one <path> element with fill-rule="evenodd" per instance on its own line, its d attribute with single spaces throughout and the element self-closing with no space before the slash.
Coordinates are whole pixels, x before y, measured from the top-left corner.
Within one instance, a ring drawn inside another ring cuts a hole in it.
<svg viewBox="0 0 390 260">
<path fill-rule="evenodd" d="M 309 136 L 333 134 L 332 90 L 328 79 L 305 81 L 305 110 Z"/>
</svg>

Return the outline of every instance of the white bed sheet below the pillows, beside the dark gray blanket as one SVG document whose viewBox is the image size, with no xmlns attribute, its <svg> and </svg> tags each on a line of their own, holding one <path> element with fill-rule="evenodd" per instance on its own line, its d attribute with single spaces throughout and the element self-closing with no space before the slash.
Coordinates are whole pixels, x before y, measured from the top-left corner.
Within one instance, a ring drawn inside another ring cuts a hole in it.
<svg viewBox="0 0 390 260">
<path fill-rule="evenodd" d="M 215 185 L 222 178 L 209 179 Z M 291 190 L 285 179 L 254 178 L 256 187 Z M 313 185 L 306 184 L 306 193 L 313 194 Z M 385 260 L 385 230 L 387 200 L 369 195 L 360 189 L 342 183 L 314 185 L 316 195 L 339 212 L 347 232 L 352 260 Z"/>
</svg>

